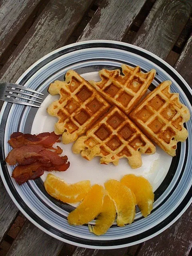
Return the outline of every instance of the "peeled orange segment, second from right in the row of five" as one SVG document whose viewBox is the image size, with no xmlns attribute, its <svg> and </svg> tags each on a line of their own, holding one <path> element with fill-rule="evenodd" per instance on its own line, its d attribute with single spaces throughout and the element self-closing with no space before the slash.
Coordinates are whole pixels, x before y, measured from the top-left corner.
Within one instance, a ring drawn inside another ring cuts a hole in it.
<svg viewBox="0 0 192 256">
<path fill-rule="evenodd" d="M 118 180 L 108 180 L 104 185 L 115 204 L 117 225 L 131 224 L 135 217 L 135 201 L 131 190 Z"/>
</svg>

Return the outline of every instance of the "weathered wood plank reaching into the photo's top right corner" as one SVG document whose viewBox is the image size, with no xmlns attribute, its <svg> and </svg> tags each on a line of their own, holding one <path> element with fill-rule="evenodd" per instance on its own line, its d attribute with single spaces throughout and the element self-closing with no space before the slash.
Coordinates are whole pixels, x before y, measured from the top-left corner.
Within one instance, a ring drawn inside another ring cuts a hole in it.
<svg viewBox="0 0 192 256">
<path fill-rule="evenodd" d="M 157 0 L 136 34 L 133 44 L 166 58 L 191 12 L 191 0 Z"/>
</svg>

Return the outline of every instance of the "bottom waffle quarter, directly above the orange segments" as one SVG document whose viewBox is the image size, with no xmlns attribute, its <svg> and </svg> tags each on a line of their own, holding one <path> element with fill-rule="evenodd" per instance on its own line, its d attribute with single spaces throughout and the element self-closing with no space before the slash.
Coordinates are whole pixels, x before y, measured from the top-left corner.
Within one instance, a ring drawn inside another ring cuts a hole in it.
<svg viewBox="0 0 192 256">
<path fill-rule="evenodd" d="M 118 165 L 120 158 L 126 157 L 132 168 L 142 165 L 141 154 L 153 154 L 155 146 L 133 124 L 133 122 L 119 110 L 112 107 L 87 132 L 74 143 L 74 153 L 81 153 L 82 157 L 92 160 L 100 156 L 101 164 L 113 162 Z"/>
</svg>

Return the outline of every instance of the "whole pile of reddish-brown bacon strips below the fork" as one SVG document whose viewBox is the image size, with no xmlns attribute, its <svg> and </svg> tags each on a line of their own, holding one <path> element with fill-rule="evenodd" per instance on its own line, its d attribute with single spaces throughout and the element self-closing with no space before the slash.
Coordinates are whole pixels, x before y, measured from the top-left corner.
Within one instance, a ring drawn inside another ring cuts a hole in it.
<svg viewBox="0 0 192 256">
<path fill-rule="evenodd" d="M 44 171 L 62 172 L 69 168 L 68 157 L 58 156 L 62 149 L 52 147 L 54 142 L 58 142 L 58 138 L 58 135 L 49 132 L 38 135 L 16 132 L 10 136 L 8 142 L 13 149 L 6 157 L 6 162 L 10 165 L 18 163 L 12 177 L 19 185 L 39 178 Z"/>
</svg>

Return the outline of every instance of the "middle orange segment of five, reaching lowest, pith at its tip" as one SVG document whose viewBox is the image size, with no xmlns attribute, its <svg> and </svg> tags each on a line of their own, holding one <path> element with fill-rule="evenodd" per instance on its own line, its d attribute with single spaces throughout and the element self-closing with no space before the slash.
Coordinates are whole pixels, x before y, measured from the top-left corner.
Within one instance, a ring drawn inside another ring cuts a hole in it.
<svg viewBox="0 0 192 256">
<path fill-rule="evenodd" d="M 116 210 L 109 196 L 104 196 L 103 206 L 94 226 L 88 225 L 89 231 L 100 236 L 105 234 L 115 221 Z"/>
</svg>

